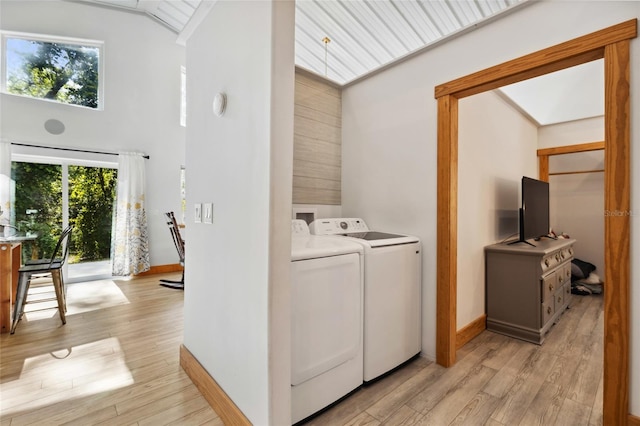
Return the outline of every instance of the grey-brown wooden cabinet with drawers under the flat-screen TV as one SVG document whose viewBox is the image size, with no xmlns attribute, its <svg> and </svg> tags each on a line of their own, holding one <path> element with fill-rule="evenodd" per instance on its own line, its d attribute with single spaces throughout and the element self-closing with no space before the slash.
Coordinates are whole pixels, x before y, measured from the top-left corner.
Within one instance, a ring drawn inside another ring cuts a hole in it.
<svg viewBox="0 0 640 426">
<path fill-rule="evenodd" d="M 574 243 L 485 247 L 487 330 L 541 345 L 571 303 Z"/>
</svg>

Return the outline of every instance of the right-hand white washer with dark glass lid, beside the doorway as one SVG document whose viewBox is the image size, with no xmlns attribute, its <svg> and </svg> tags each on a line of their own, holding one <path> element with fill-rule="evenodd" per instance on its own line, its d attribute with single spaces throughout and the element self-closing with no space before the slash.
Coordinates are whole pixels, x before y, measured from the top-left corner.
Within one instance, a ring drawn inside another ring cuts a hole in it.
<svg viewBox="0 0 640 426">
<path fill-rule="evenodd" d="M 370 231 L 359 218 L 318 219 L 310 230 L 316 235 L 339 235 L 364 247 L 364 381 L 419 354 L 420 240 Z"/>
</svg>

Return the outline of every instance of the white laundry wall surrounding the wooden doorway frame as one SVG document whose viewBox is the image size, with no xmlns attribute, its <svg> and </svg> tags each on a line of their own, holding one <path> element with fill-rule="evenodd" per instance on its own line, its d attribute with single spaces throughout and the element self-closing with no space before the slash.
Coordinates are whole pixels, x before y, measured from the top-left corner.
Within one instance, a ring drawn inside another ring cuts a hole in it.
<svg viewBox="0 0 640 426">
<path fill-rule="evenodd" d="M 423 354 L 435 357 L 436 134 L 434 87 L 620 22 L 637 18 L 637 2 L 534 2 L 343 91 L 343 214 L 372 227 L 418 235 L 423 250 Z M 640 87 L 640 43 L 631 42 L 632 93 Z M 632 144 L 640 106 L 632 97 Z M 633 150 L 632 182 L 640 166 Z M 634 208 L 640 186 L 632 187 Z M 640 265 L 640 238 L 632 216 L 632 265 Z M 640 306 L 632 269 L 632 306 Z M 640 310 L 632 312 L 632 413 L 640 414 Z"/>
</svg>

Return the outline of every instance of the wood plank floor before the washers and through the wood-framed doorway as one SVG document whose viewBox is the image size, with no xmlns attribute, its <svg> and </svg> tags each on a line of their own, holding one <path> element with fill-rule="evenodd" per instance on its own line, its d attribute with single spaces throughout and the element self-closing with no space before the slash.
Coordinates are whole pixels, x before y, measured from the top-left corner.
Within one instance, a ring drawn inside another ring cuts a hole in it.
<svg viewBox="0 0 640 426">
<path fill-rule="evenodd" d="M 305 426 L 601 425 L 602 302 L 573 296 L 542 346 L 484 331 L 452 368 L 418 358 Z"/>
</svg>

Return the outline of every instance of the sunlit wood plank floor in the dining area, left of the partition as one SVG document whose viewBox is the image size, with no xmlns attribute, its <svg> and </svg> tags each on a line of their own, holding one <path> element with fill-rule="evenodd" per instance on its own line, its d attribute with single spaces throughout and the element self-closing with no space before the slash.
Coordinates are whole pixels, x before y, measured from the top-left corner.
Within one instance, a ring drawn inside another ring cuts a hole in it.
<svg viewBox="0 0 640 426">
<path fill-rule="evenodd" d="M 0 425 L 222 425 L 180 368 L 183 293 L 159 277 L 70 284 L 66 325 L 49 309 L 2 334 Z"/>
</svg>

